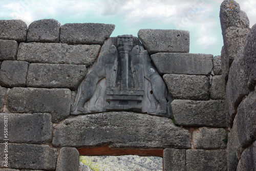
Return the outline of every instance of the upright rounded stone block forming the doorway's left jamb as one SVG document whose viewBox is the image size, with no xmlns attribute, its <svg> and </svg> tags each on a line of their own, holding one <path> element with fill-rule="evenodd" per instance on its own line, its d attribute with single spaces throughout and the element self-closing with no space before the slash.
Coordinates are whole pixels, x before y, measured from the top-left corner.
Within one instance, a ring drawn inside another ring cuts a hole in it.
<svg viewBox="0 0 256 171">
<path fill-rule="evenodd" d="M 60 149 L 56 171 L 78 171 L 79 169 L 79 152 L 76 148 L 63 147 Z"/>
</svg>

